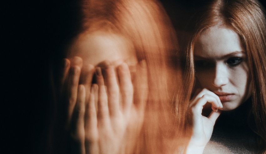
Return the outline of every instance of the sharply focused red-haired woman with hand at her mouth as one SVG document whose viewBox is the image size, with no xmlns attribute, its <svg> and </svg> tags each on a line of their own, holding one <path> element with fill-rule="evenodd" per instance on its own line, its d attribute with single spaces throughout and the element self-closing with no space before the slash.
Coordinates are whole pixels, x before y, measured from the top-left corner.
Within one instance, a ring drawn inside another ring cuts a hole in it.
<svg viewBox="0 0 266 154">
<path fill-rule="evenodd" d="M 189 93 L 192 136 L 187 153 L 265 152 L 263 7 L 256 0 L 215 0 L 197 17 L 185 56 L 184 83 L 188 92 L 194 89 Z M 207 102 L 212 111 L 206 111 Z"/>
</svg>

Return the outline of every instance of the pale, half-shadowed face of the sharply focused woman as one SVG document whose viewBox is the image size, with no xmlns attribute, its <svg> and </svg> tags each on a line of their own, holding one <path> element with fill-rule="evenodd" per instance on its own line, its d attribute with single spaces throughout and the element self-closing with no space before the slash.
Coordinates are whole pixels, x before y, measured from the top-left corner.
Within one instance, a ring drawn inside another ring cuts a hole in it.
<svg viewBox="0 0 266 154">
<path fill-rule="evenodd" d="M 246 52 L 238 34 L 227 26 L 212 26 L 195 41 L 197 82 L 217 94 L 222 110 L 233 110 L 250 97 Z"/>
</svg>

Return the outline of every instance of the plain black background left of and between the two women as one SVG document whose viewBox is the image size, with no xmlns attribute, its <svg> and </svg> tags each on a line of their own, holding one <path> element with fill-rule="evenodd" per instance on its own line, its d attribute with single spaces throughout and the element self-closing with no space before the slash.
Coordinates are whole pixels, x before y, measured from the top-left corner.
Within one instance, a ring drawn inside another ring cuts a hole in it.
<svg viewBox="0 0 266 154">
<path fill-rule="evenodd" d="M 189 35 L 193 25 L 187 23 L 203 1 L 161 2 L 178 36 Z M 265 6 L 265 1 L 261 2 Z M 63 46 L 79 29 L 78 4 L 77 0 L 2 4 L 3 153 L 47 153 L 48 117 L 53 103 L 51 62 L 60 62 Z M 181 46 L 186 41 L 179 39 Z"/>
</svg>

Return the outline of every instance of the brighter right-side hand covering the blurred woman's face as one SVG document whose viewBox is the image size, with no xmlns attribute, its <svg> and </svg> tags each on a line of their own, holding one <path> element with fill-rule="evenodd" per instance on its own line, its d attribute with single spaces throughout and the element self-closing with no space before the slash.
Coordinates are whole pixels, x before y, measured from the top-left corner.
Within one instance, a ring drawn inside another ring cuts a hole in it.
<svg viewBox="0 0 266 154">
<path fill-rule="evenodd" d="M 134 95 L 130 71 L 125 63 L 117 68 L 119 80 L 116 79 L 115 68 L 111 65 L 105 64 L 102 71 L 98 67 L 96 74 L 98 85 L 93 87 L 99 87 L 98 115 L 95 114 L 97 107 L 94 106 L 94 96 L 91 95 L 89 104 L 93 110 L 89 112 L 93 114 L 90 114 L 89 120 L 86 121 L 91 124 L 88 125 L 89 130 L 94 130 L 86 131 L 90 153 L 132 153 L 143 123 L 147 99 L 146 64 L 141 62 L 137 66 L 136 74 L 139 76 L 135 78 Z"/>
</svg>

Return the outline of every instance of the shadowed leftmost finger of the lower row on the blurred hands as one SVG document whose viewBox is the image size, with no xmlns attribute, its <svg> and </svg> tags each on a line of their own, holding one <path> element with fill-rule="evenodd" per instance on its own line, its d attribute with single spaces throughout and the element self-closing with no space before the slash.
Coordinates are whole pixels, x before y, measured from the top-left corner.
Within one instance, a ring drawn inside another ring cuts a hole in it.
<svg viewBox="0 0 266 154">
<path fill-rule="evenodd" d="M 74 144 L 72 144 L 71 149 L 77 150 L 78 153 L 85 153 L 84 113 L 85 113 L 85 88 L 84 85 L 79 85 L 77 103 L 73 111 L 72 129 L 71 129 L 71 134 L 74 139 Z"/>
</svg>

